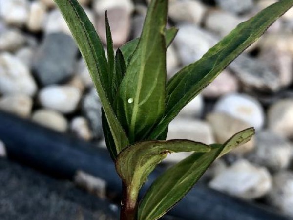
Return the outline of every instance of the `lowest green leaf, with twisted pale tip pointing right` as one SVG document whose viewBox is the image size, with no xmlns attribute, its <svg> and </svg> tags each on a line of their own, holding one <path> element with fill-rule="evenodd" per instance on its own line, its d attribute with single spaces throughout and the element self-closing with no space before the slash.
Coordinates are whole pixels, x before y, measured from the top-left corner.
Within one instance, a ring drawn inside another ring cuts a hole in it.
<svg viewBox="0 0 293 220">
<path fill-rule="evenodd" d="M 146 192 L 138 209 L 138 220 L 156 220 L 179 202 L 219 155 L 250 140 L 254 129 L 235 134 L 223 145 L 211 145 L 208 153 L 194 153 L 159 176 Z"/>
</svg>

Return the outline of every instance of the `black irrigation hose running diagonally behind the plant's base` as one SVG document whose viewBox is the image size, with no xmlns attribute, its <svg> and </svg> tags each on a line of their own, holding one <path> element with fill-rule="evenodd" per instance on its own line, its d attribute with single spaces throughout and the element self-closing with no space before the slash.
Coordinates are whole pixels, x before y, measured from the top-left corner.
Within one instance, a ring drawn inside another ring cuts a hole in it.
<svg viewBox="0 0 293 220">
<path fill-rule="evenodd" d="M 104 149 L 4 112 L 0 112 L 0 139 L 11 159 L 63 178 L 83 170 L 105 179 L 109 190 L 121 193 L 121 181 Z M 159 173 L 149 177 L 146 187 Z M 185 220 L 290 220 L 202 185 L 194 187 L 169 214 Z"/>
</svg>

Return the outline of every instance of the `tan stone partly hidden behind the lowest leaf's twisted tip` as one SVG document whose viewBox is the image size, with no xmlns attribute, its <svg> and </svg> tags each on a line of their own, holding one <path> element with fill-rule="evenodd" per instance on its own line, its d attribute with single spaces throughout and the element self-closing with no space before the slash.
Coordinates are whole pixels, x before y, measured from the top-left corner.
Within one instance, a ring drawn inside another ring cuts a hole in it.
<svg viewBox="0 0 293 220">
<path fill-rule="evenodd" d="M 221 112 L 210 113 L 207 116 L 207 120 L 213 129 L 217 143 L 221 144 L 224 144 L 235 133 L 250 127 L 246 122 Z M 240 155 L 247 154 L 253 150 L 254 146 L 255 141 L 254 137 L 252 137 L 249 142 L 232 150 L 231 153 Z"/>
</svg>

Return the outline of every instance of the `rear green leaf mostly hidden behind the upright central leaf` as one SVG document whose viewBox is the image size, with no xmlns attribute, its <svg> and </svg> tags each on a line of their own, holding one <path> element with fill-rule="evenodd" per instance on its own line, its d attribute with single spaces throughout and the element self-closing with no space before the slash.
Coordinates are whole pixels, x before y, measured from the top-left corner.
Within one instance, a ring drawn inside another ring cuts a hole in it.
<svg viewBox="0 0 293 220">
<path fill-rule="evenodd" d="M 168 48 L 169 45 L 173 42 L 174 38 L 177 35 L 177 32 L 178 32 L 178 29 L 175 27 L 171 27 L 170 29 L 166 30 L 166 48 Z M 132 57 L 139 40 L 140 40 L 139 38 L 133 39 L 132 41 L 127 42 L 121 47 L 121 51 L 125 57 L 126 66 L 130 58 Z"/>
</svg>

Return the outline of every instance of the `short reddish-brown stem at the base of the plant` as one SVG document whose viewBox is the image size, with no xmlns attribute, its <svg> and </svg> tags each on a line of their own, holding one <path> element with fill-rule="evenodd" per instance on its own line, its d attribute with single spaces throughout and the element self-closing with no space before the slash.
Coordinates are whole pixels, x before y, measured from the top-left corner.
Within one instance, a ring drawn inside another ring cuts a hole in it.
<svg viewBox="0 0 293 220">
<path fill-rule="evenodd" d="M 123 184 L 120 220 L 137 220 L 138 192 Z"/>
</svg>

